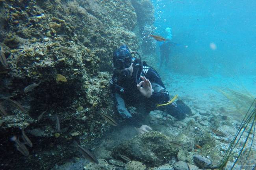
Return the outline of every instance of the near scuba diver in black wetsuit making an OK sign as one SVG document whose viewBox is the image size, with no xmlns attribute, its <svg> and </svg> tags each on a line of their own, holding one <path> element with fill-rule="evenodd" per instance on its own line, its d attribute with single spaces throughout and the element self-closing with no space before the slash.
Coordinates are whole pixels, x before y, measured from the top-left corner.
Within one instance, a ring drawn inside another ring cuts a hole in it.
<svg viewBox="0 0 256 170">
<path fill-rule="evenodd" d="M 139 59 L 132 57 L 132 54 L 138 55 Z M 117 112 L 125 121 L 132 120 L 133 125 L 136 122 L 126 106 L 136 108 L 136 112 L 143 115 L 153 110 L 164 111 L 163 120 L 167 119 L 167 114 L 185 119 L 186 113 L 191 113 L 190 108 L 181 100 L 176 101 L 176 104 L 174 99 L 170 101 L 169 91 L 165 89 L 156 70 L 142 62 L 139 53 L 130 52 L 125 44 L 114 51 L 113 66 L 114 73 L 109 84 Z M 140 130 L 145 130 L 145 127 L 148 126 L 141 126 Z"/>
</svg>

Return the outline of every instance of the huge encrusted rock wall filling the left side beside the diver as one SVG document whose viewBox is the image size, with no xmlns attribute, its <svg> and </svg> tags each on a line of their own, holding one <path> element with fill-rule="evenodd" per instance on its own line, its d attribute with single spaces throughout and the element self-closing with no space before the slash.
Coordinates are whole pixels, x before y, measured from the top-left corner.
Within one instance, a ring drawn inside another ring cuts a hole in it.
<svg viewBox="0 0 256 170">
<path fill-rule="evenodd" d="M 109 129 L 98 114 L 113 115 L 111 75 L 103 71 L 112 71 L 113 49 L 124 43 L 138 49 L 132 32 L 137 14 L 132 2 L 122 0 L 1 0 L 0 9 L 1 53 L 8 64 L 0 64 L 0 103 L 8 114 L 0 117 L 1 168 L 50 169 L 79 156 L 74 139 L 90 147 Z M 28 157 L 9 140 L 22 128 L 33 143 Z"/>
</svg>

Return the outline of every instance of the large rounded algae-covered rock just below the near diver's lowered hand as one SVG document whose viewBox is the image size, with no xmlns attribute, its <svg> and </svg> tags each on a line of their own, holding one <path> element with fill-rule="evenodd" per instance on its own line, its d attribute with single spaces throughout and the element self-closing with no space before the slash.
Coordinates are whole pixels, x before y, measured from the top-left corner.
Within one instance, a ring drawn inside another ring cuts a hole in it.
<svg viewBox="0 0 256 170">
<path fill-rule="evenodd" d="M 147 166 L 158 166 L 167 163 L 172 157 L 177 157 L 178 148 L 170 141 L 163 133 L 152 131 L 137 135 L 115 147 L 113 155 L 120 153 Z"/>
</svg>

